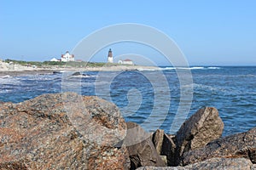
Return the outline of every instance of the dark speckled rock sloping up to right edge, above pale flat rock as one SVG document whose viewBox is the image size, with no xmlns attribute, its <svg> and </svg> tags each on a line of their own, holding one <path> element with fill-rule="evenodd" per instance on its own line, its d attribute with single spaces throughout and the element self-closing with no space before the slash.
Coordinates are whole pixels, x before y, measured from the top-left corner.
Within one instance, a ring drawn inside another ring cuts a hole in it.
<svg viewBox="0 0 256 170">
<path fill-rule="evenodd" d="M 212 157 L 247 158 L 255 163 L 256 127 L 246 133 L 216 139 L 204 148 L 190 150 L 183 155 L 183 165 L 205 161 Z"/>
</svg>

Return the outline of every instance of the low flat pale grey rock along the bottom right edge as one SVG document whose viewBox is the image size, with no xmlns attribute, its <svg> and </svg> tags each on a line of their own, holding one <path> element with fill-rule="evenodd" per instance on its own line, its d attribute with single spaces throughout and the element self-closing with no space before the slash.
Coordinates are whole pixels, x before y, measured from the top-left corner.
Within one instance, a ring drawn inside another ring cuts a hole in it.
<svg viewBox="0 0 256 170">
<path fill-rule="evenodd" d="M 254 167 L 250 160 L 244 158 L 212 158 L 186 167 L 139 167 L 137 170 L 253 170 Z"/>
</svg>

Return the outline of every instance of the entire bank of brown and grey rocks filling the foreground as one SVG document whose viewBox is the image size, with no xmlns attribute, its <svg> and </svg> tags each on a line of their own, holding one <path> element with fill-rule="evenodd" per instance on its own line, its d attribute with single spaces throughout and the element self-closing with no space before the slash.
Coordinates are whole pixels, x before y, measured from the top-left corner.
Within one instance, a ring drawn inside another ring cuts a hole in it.
<svg viewBox="0 0 256 170">
<path fill-rule="evenodd" d="M 44 94 L 0 102 L 0 169 L 256 169 L 256 127 L 224 138 L 223 129 L 212 107 L 171 135 L 125 122 L 94 96 Z"/>
</svg>

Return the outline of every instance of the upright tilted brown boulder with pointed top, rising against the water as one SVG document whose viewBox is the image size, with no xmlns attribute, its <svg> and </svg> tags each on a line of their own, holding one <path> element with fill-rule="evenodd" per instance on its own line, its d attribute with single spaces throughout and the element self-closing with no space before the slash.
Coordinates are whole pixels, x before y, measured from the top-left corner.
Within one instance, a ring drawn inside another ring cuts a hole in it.
<svg viewBox="0 0 256 170">
<path fill-rule="evenodd" d="M 204 107 L 197 111 L 177 131 L 175 162 L 181 164 L 183 153 L 204 147 L 213 139 L 218 139 L 223 132 L 224 123 L 218 116 L 217 109 Z"/>
</svg>

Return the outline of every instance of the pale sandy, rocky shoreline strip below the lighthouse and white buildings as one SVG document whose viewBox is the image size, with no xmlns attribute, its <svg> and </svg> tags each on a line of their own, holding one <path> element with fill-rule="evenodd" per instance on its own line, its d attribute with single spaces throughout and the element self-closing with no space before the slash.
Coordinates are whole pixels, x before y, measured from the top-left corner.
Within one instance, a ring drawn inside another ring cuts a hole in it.
<svg viewBox="0 0 256 170">
<path fill-rule="evenodd" d="M 22 76 L 50 74 L 53 71 L 131 71 L 131 70 L 158 70 L 156 66 L 145 65 L 120 65 L 115 63 L 92 63 L 92 62 L 56 62 L 56 61 L 18 61 L 7 59 L 2 62 L 5 69 L 0 67 L 0 76 Z"/>
</svg>

